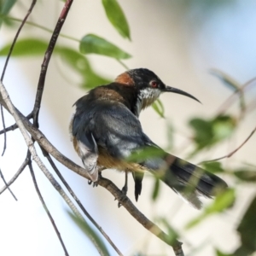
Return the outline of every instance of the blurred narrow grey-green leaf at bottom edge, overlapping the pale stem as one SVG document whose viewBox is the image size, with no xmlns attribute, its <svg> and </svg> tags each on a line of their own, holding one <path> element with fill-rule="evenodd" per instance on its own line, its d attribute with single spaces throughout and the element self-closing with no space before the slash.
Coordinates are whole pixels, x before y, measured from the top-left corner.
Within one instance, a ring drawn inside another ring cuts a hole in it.
<svg viewBox="0 0 256 256">
<path fill-rule="evenodd" d="M 103 253 L 103 255 L 110 256 L 110 253 L 108 253 L 108 249 L 104 242 L 102 241 L 102 238 L 96 234 L 96 231 L 93 230 L 90 225 L 84 221 L 84 219 L 79 218 L 78 216 L 74 215 L 72 212 L 67 212 L 68 215 L 73 219 L 73 222 L 77 224 L 84 232 L 84 235 L 89 237 L 90 240 L 93 240 L 96 242 L 96 247 L 99 247 Z"/>
</svg>

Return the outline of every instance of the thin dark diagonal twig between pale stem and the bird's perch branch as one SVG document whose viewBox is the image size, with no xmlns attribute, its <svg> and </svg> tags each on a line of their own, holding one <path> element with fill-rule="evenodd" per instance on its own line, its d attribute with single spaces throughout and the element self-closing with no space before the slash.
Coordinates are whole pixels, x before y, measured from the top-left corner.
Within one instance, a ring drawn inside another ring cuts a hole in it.
<svg viewBox="0 0 256 256">
<path fill-rule="evenodd" d="M 90 213 L 86 211 L 86 209 L 84 208 L 84 206 L 82 205 L 81 201 L 79 201 L 79 198 L 77 197 L 77 195 L 75 195 L 75 193 L 73 192 L 73 189 L 71 189 L 71 187 L 68 185 L 68 183 L 66 182 L 65 178 L 61 175 L 61 172 L 58 170 L 58 168 L 55 166 L 54 161 L 51 159 L 50 155 L 48 154 L 48 152 L 46 152 L 44 150 L 44 148 L 42 148 L 43 150 L 43 154 L 44 156 L 47 158 L 47 160 L 49 161 L 49 164 L 52 166 L 52 168 L 55 170 L 55 173 L 58 175 L 58 177 L 60 177 L 61 182 L 65 185 L 65 187 L 67 188 L 68 192 L 70 193 L 70 195 L 73 196 L 73 199 L 77 202 L 77 204 L 79 205 L 80 209 L 82 210 L 82 212 L 84 212 L 84 215 L 90 219 L 91 223 L 94 224 L 97 228 L 97 230 L 99 230 L 102 233 L 102 236 L 104 236 L 106 238 L 106 240 L 109 242 L 109 244 L 113 247 L 113 249 L 116 251 L 116 253 L 118 253 L 119 255 L 123 255 L 120 251 L 119 248 L 115 246 L 115 244 L 113 243 L 113 241 L 110 239 L 110 237 L 105 233 L 104 230 L 102 230 L 102 227 L 96 223 L 95 219 L 91 217 Z"/>
</svg>

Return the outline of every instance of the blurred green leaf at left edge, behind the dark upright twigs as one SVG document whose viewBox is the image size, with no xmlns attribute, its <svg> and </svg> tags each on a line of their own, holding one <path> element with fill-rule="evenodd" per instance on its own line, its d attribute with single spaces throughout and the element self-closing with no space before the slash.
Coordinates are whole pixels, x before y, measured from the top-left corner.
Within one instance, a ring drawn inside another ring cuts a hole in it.
<svg viewBox="0 0 256 256">
<path fill-rule="evenodd" d="M 5 44 L 0 49 L 0 55 L 8 55 L 9 49 L 12 43 Z M 47 49 L 48 43 L 46 41 L 36 38 L 20 39 L 15 44 L 15 48 L 12 52 L 13 57 L 24 57 L 33 55 L 44 55 Z"/>
</svg>

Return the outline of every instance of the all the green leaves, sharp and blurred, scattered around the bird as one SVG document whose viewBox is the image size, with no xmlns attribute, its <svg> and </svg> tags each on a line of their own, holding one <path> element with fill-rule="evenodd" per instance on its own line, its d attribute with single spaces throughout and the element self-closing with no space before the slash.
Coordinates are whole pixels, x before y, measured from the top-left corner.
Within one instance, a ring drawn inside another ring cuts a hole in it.
<svg viewBox="0 0 256 256">
<path fill-rule="evenodd" d="M 10 10 L 14 7 L 15 0 L 0 0 L 0 26 L 12 25 L 12 18 L 9 17 Z M 124 11 L 121 9 L 119 3 L 116 0 L 102 0 L 102 8 L 108 17 L 110 24 L 123 38 L 131 40 L 131 32 L 128 21 L 125 17 Z M 64 35 L 61 35 L 64 37 Z M 67 38 L 67 37 L 66 37 Z M 82 39 L 70 38 L 78 43 L 77 47 L 70 47 L 64 44 L 57 43 L 54 50 L 54 55 L 61 58 L 68 68 L 79 74 L 80 86 L 88 90 L 94 88 L 98 84 L 108 84 L 110 79 L 103 77 L 100 73 L 97 73 L 87 55 L 96 54 L 104 57 L 110 57 L 119 61 L 122 64 L 122 60 L 131 58 L 131 54 L 127 53 L 124 49 L 112 43 L 112 40 L 102 38 L 96 34 L 90 33 L 84 35 Z M 9 54 L 9 49 L 12 41 L 4 44 L 0 49 L 0 55 L 6 56 Z M 40 38 L 22 38 L 15 44 L 15 49 L 12 53 L 12 57 L 24 58 L 24 57 L 43 57 L 45 50 L 48 47 L 48 42 Z M 123 64 L 124 66 L 124 64 Z M 236 93 L 239 96 L 239 107 L 241 113 L 246 112 L 247 102 L 244 96 L 244 88 L 241 84 L 237 83 L 234 79 L 231 79 L 228 75 L 218 70 L 212 70 L 212 73 L 220 79 L 225 86 L 228 86 L 232 93 Z M 161 118 L 165 118 L 165 109 L 160 100 L 157 100 L 153 104 L 153 108 Z M 194 117 L 189 120 L 189 127 L 193 133 L 192 142 L 195 144 L 195 150 L 190 154 L 194 156 L 198 152 L 208 148 L 214 148 L 219 143 L 224 142 L 227 139 L 232 138 L 238 123 L 241 121 L 235 115 L 230 113 L 218 113 L 213 117 Z M 168 140 L 172 141 L 174 128 L 168 127 Z M 171 143 L 170 143 L 171 145 Z M 172 145 L 170 146 L 170 148 Z M 143 161 L 148 156 L 162 156 L 164 153 L 158 148 L 146 148 L 145 150 L 138 151 L 132 154 L 128 160 L 131 161 Z M 221 162 L 204 162 L 202 166 L 209 172 L 224 173 L 224 167 Z M 256 168 L 255 166 L 241 166 L 236 170 L 229 170 L 230 174 L 237 178 L 240 182 L 255 183 L 256 182 Z M 160 195 L 160 180 L 155 178 L 154 188 L 152 189 L 153 202 L 159 199 Z M 236 189 L 227 189 L 223 194 L 218 195 L 212 204 L 206 207 L 201 214 L 194 218 L 189 224 L 186 225 L 187 229 L 192 229 L 196 225 L 201 224 L 203 220 L 213 214 L 220 214 L 234 205 L 236 201 Z M 256 214 L 256 197 L 247 207 L 247 210 L 241 218 L 240 224 L 238 224 L 237 232 L 241 237 L 241 246 L 236 249 L 234 254 L 236 256 L 249 255 L 256 251 L 256 229 L 254 218 Z M 73 221 L 78 224 L 79 228 L 83 230 L 86 236 L 92 236 L 96 240 L 102 251 L 109 255 L 108 249 L 102 241 L 101 237 L 92 229 L 90 225 L 81 221 L 81 219 L 70 214 Z M 180 236 L 177 230 L 168 223 L 166 218 L 161 218 L 160 223 L 163 224 L 167 230 L 168 240 L 170 243 L 175 241 Z M 218 256 L 228 256 L 219 250 L 216 250 Z"/>
</svg>

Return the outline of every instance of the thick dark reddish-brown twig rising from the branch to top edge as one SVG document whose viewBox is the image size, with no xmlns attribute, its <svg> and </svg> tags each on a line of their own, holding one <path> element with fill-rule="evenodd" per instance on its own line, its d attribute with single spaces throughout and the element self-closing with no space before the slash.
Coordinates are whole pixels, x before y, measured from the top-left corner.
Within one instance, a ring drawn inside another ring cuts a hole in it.
<svg viewBox="0 0 256 256">
<path fill-rule="evenodd" d="M 55 44 L 56 44 L 57 38 L 59 37 L 59 34 L 61 32 L 61 27 L 63 26 L 63 24 L 67 18 L 67 14 L 68 14 L 69 9 L 71 8 L 72 3 L 73 3 L 73 0 L 66 1 L 65 5 L 61 11 L 61 15 L 57 21 L 56 26 L 55 26 L 55 30 L 49 40 L 48 48 L 46 49 L 46 52 L 44 54 L 44 61 L 43 61 L 42 67 L 41 67 L 41 72 L 40 72 L 40 76 L 39 76 L 39 80 L 38 80 L 37 95 L 36 95 L 36 99 L 35 99 L 34 108 L 32 110 L 33 121 L 34 121 L 34 125 L 36 127 L 38 127 L 38 114 L 39 114 L 42 97 L 43 97 L 43 93 L 44 93 L 45 77 L 46 77 L 47 69 L 49 66 L 49 60 L 53 53 L 53 50 L 55 49 Z"/>
</svg>

